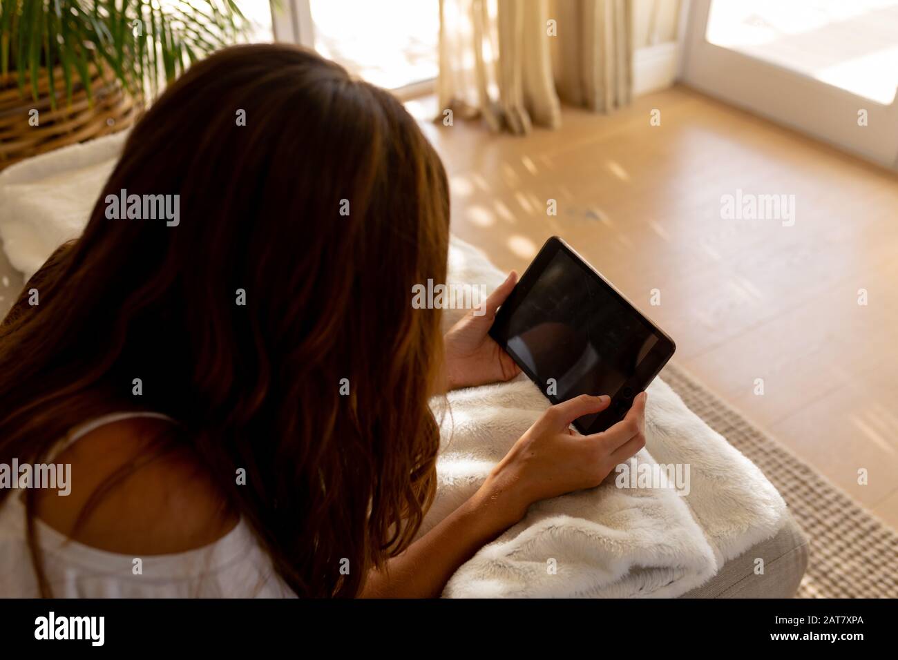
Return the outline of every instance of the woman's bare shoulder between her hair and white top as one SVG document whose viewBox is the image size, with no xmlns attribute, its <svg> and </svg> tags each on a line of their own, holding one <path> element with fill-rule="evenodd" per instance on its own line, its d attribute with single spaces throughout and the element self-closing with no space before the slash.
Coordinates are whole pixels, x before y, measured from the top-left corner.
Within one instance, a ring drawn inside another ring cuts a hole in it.
<svg viewBox="0 0 898 660">
<path fill-rule="evenodd" d="M 70 492 L 39 491 L 40 520 L 84 545 L 135 556 L 195 550 L 223 537 L 238 516 L 189 449 L 154 446 L 169 425 L 123 419 L 66 448 L 53 462 L 66 466 Z"/>
</svg>

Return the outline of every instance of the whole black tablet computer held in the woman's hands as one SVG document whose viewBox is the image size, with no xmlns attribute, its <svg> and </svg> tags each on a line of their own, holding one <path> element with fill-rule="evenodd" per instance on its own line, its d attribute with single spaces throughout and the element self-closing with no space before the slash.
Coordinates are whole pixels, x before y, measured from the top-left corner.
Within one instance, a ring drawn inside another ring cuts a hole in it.
<svg viewBox="0 0 898 660">
<path fill-rule="evenodd" d="M 553 404 L 580 394 L 612 398 L 607 409 L 574 422 L 584 435 L 620 421 L 675 349 L 558 236 L 524 271 L 489 334 Z"/>
</svg>

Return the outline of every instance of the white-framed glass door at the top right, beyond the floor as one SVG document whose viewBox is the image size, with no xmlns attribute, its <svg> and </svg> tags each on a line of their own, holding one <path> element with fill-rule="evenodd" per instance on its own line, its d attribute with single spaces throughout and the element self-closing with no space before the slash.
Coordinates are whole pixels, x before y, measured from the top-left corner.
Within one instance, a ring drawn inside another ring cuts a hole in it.
<svg viewBox="0 0 898 660">
<path fill-rule="evenodd" d="M 682 78 L 898 168 L 898 0 L 691 0 Z"/>
</svg>

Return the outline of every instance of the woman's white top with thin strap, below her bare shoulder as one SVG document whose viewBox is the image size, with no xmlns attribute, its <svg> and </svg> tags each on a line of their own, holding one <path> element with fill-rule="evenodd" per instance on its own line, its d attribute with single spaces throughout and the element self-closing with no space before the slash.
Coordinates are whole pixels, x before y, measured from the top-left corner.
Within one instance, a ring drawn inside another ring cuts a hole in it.
<svg viewBox="0 0 898 660">
<path fill-rule="evenodd" d="M 153 417 L 151 412 L 120 412 L 92 420 L 66 437 L 45 462 L 93 429 L 120 419 Z M 0 506 L 0 597 L 40 596 L 25 536 L 22 492 L 14 489 Z M 97 550 L 72 541 L 35 519 L 44 571 L 57 598 L 281 598 L 295 597 L 277 576 L 268 554 L 241 520 L 218 541 L 197 550 L 136 557 Z"/>
</svg>

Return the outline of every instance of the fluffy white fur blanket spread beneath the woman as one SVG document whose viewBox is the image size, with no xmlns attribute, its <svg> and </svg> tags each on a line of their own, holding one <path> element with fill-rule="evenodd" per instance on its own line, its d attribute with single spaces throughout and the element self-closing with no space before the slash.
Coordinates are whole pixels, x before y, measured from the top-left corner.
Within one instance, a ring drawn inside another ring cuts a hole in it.
<svg viewBox="0 0 898 660">
<path fill-rule="evenodd" d="M 30 277 L 81 232 L 124 139 L 73 145 L 0 173 L 0 238 L 14 268 Z M 450 283 L 489 289 L 503 279 L 480 251 L 454 238 L 449 273 Z M 461 313 L 447 311 L 446 325 Z M 639 469 L 688 465 L 688 495 L 655 488 L 669 485 L 660 475 L 637 488 L 611 480 L 541 502 L 459 568 L 445 596 L 676 596 L 776 533 L 785 505 L 761 471 L 661 379 L 648 393 Z M 523 375 L 452 392 L 448 400 L 436 502 L 420 533 L 479 488 L 549 405 Z"/>
</svg>

